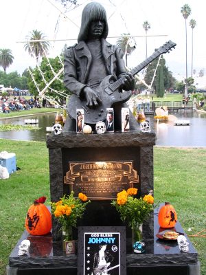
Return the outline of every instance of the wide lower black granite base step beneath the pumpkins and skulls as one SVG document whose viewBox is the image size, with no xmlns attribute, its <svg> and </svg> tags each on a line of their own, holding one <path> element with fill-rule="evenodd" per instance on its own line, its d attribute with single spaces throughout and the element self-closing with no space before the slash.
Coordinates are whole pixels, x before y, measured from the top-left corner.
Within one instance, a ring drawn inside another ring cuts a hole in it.
<svg viewBox="0 0 206 275">
<path fill-rule="evenodd" d="M 165 241 L 157 238 L 156 234 L 163 230 L 159 228 L 157 211 L 158 209 L 154 214 L 153 242 L 146 245 L 146 253 L 131 254 L 131 240 L 126 240 L 127 275 L 200 275 L 198 254 L 188 238 L 189 252 L 180 252 L 177 241 Z M 175 230 L 185 234 L 179 222 L 176 223 Z M 186 234 L 185 236 L 187 237 Z M 23 239 L 30 239 L 30 250 L 26 255 L 18 256 L 19 244 Z M 24 232 L 10 254 L 8 275 L 27 274 L 76 275 L 77 254 L 67 256 L 62 251 L 62 242 L 54 241 L 52 234 L 30 236 Z"/>
</svg>

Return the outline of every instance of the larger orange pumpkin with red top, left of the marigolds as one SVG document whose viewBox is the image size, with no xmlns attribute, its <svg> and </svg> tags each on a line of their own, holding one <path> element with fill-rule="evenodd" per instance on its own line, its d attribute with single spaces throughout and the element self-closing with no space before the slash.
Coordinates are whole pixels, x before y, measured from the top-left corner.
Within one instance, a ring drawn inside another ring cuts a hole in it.
<svg viewBox="0 0 206 275">
<path fill-rule="evenodd" d="M 46 197 L 40 197 L 30 206 L 25 219 L 25 228 L 31 235 L 45 235 L 52 229 L 52 214 L 43 203 Z"/>
</svg>

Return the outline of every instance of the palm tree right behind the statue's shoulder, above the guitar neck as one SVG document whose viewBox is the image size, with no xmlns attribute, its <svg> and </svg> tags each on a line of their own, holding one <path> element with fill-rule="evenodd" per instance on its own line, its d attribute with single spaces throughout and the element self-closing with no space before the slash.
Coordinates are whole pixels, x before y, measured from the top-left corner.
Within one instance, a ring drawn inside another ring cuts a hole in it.
<svg viewBox="0 0 206 275">
<path fill-rule="evenodd" d="M 122 37 L 117 39 L 116 45 L 122 48 L 125 54 L 125 63 L 127 66 L 127 56 L 130 55 L 136 48 L 136 42 L 130 34 L 122 34 Z"/>
</svg>

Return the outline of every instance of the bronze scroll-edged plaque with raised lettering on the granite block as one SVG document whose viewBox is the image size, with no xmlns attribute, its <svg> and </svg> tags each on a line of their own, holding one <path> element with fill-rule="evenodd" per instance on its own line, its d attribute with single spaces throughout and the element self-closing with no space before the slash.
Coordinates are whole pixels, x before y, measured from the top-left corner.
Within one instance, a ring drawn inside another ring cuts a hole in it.
<svg viewBox="0 0 206 275">
<path fill-rule="evenodd" d="M 133 162 L 69 162 L 65 184 L 89 199 L 115 199 L 117 192 L 139 182 Z"/>
</svg>

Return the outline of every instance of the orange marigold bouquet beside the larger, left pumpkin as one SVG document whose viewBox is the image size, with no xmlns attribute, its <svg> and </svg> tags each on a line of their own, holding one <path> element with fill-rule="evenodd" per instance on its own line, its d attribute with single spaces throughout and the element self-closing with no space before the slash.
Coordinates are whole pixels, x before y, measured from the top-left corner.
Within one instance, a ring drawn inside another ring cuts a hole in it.
<svg viewBox="0 0 206 275">
<path fill-rule="evenodd" d="M 64 195 L 60 201 L 52 202 L 52 214 L 61 223 L 62 228 L 69 226 L 76 227 L 78 218 L 82 218 L 84 210 L 90 201 L 87 201 L 87 196 L 83 193 L 78 194 L 78 198 L 73 197 L 74 192 Z"/>
</svg>

